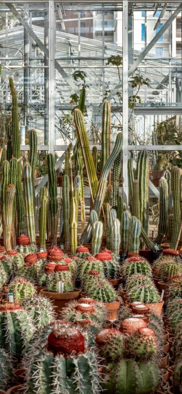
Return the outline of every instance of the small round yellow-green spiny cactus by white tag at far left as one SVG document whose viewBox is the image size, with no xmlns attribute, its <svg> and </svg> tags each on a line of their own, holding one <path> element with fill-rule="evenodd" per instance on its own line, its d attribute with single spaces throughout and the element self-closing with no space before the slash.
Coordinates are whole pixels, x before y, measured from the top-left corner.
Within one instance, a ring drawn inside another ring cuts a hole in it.
<svg viewBox="0 0 182 394">
<path fill-rule="evenodd" d="M 13 293 L 16 302 L 21 302 L 25 298 L 34 296 L 36 290 L 35 287 L 32 285 L 32 283 L 26 281 L 26 279 L 21 277 L 20 278 L 16 277 L 9 284 L 7 292 Z"/>
</svg>

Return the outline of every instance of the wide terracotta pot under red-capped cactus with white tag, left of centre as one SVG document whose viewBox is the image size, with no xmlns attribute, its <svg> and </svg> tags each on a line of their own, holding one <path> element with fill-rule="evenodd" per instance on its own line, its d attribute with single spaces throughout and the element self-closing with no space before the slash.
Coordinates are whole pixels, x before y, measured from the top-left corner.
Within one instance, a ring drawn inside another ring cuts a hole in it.
<svg viewBox="0 0 182 394">
<path fill-rule="evenodd" d="M 47 292 L 45 289 L 40 291 L 40 294 L 52 300 L 53 305 L 56 307 L 57 316 L 60 315 L 62 309 L 71 299 L 77 299 L 81 293 L 81 290 L 76 289 L 74 292 L 68 293 L 54 293 Z"/>
</svg>

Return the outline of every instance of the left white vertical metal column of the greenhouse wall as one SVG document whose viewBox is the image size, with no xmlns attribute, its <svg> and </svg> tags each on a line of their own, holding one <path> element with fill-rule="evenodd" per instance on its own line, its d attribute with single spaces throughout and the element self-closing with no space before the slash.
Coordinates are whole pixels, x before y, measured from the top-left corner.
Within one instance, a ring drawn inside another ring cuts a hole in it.
<svg viewBox="0 0 182 394">
<path fill-rule="evenodd" d="M 54 153 L 54 58 L 55 58 L 55 14 L 54 0 L 49 2 L 49 152 Z"/>
</svg>

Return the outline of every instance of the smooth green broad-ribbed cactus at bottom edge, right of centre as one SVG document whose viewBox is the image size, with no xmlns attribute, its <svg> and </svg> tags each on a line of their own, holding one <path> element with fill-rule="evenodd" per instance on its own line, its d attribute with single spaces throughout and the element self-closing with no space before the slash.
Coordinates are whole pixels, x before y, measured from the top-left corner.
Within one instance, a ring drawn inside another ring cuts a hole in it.
<svg viewBox="0 0 182 394">
<path fill-rule="evenodd" d="M 114 365 L 113 365 L 114 367 Z M 160 371 L 152 361 L 120 360 L 104 384 L 106 393 L 151 394 L 160 383 Z"/>
</svg>

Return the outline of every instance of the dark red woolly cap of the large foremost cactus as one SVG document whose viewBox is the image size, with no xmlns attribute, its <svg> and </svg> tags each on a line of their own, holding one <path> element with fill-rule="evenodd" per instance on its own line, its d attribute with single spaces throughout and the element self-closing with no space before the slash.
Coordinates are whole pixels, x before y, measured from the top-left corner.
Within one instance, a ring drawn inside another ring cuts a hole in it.
<svg viewBox="0 0 182 394">
<path fill-rule="evenodd" d="M 78 329 L 63 325 L 55 328 L 48 336 L 48 350 L 56 356 L 62 354 L 69 357 L 72 354 L 78 355 L 85 352 L 84 336 Z"/>
</svg>

